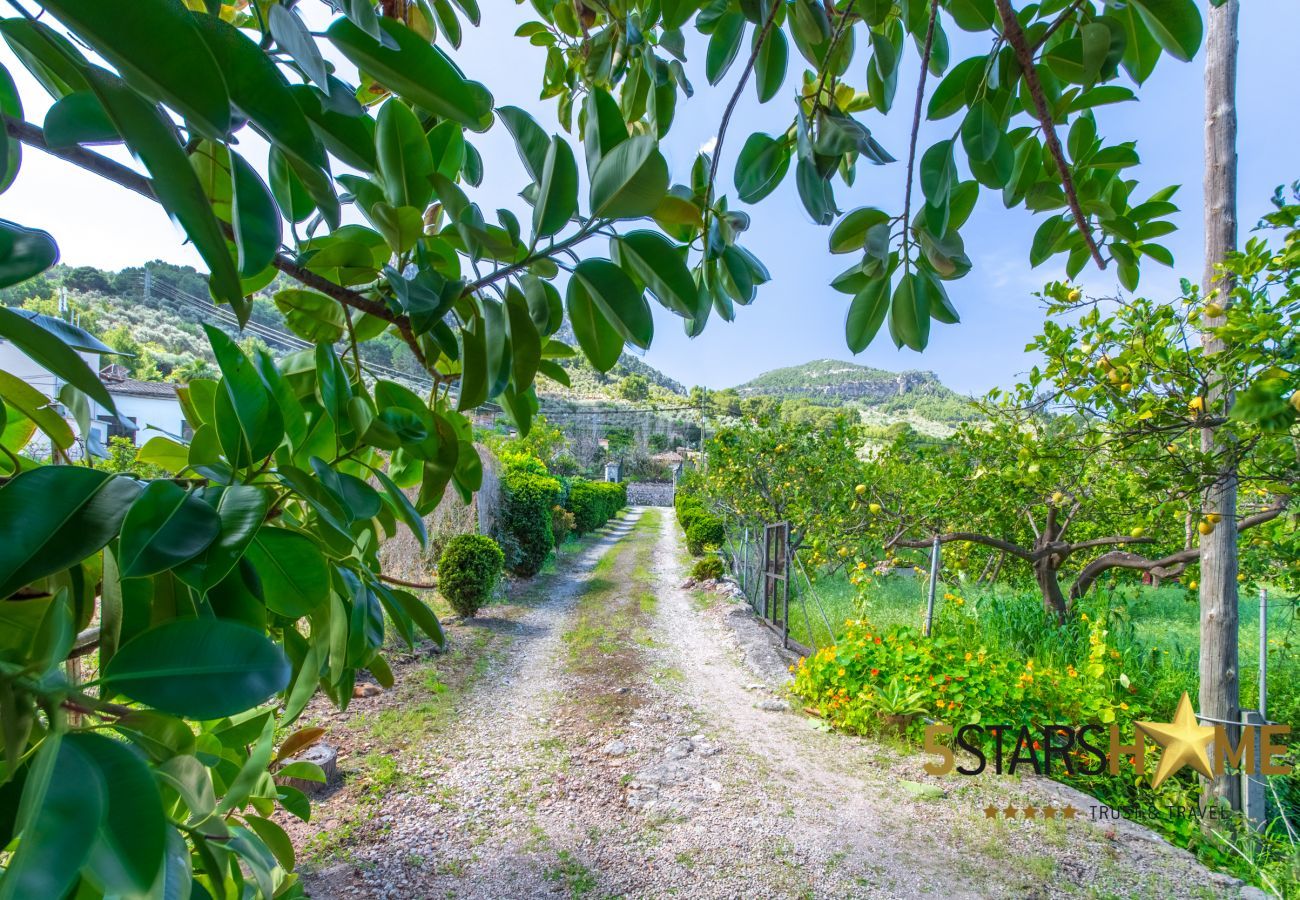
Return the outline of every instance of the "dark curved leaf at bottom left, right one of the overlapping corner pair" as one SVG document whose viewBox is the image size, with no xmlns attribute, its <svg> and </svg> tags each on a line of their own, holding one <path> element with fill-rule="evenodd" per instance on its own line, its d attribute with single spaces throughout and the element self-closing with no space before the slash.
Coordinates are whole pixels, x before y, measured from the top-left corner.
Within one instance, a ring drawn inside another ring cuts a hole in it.
<svg viewBox="0 0 1300 900">
<path fill-rule="evenodd" d="M 139 750 L 96 734 L 74 734 L 73 743 L 99 770 L 107 804 L 90 852 L 91 879 L 118 895 L 142 895 L 162 867 L 166 818 L 162 795 Z"/>
</svg>

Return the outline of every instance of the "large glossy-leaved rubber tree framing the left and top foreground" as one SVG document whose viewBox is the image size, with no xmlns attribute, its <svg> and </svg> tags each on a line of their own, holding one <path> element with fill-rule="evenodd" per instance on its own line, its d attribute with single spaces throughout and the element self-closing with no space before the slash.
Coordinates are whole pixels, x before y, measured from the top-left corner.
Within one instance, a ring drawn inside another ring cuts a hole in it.
<svg viewBox="0 0 1300 900">
<path fill-rule="evenodd" d="M 944 285 L 970 268 L 961 228 L 982 189 L 1045 213 L 1034 263 L 1113 261 L 1136 284 L 1140 256 L 1169 261 L 1154 241 L 1171 190 L 1136 192 L 1123 177 L 1136 151 L 1100 137 L 1097 111 L 1201 38 L 1193 0 L 536 0 L 517 36 L 545 48 L 541 94 L 564 127 L 547 134 L 495 104 L 481 81 L 494 60 L 459 51 L 476 0 L 10 5 L 0 36 L 52 105 L 31 121 L 32 98 L 0 73 L 0 190 L 38 151 L 156 202 L 216 302 L 246 323 L 252 295 L 287 280 L 274 303 L 313 347 L 274 359 L 209 326 L 220 377 L 181 389 L 192 438 L 151 441 L 143 462 L 172 477 L 146 481 L 74 459 L 92 403 L 114 411 L 81 354 L 112 349 L 0 308 L 0 337 L 64 385 L 68 411 L 0 375 L 0 832 L 13 848 L 0 896 L 300 893 L 270 815 L 308 814 L 276 775 L 311 775 L 281 766 L 318 732 L 277 734 L 317 691 L 346 705 L 359 670 L 389 680 L 387 628 L 441 640 L 377 550 L 399 525 L 420 535 L 448 486 L 477 489 L 465 412 L 494 401 L 524 433 L 537 377 L 567 380 L 556 360 L 581 351 L 603 372 L 650 345 L 647 297 L 698 334 L 768 280 L 718 177 L 745 91 L 784 92 L 793 111 L 774 113 L 775 137 L 745 140 L 738 200 L 770 194 L 793 163 L 805 208 L 835 224 L 831 250 L 857 255 L 835 282 L 853 295 L 850 347 L 888 315 L 893 339 L 919 350 L 931 319 L 957 320 Z M 988 48 L 954 62 L 950 30 Z M 858 165 L 893 159 L 863 118 L 889 113 L 909 43 L 902 207 L 841 216 Z M 694 91 L 681 61 L 697 47 L 711 83 L 737 74 L 714 152 L 675 179 L 659 142 Z M 952 118 L 953 137 L 918 147 L 922 114 Z M 474 199 L 498 178 L 474 146 L 490 129 L 519 150 L 524 215 Z M 83 215 L 117 226 L 112 209 Z M 0 289 L 57 252 L 0 224 Z M 577 350 L 556 338 L 566 324 Z M 425 380 L 368 369 L 370 341 L 400 341 Z M 68 678 L 87 655 L 99 676 Z"/>
</svg>

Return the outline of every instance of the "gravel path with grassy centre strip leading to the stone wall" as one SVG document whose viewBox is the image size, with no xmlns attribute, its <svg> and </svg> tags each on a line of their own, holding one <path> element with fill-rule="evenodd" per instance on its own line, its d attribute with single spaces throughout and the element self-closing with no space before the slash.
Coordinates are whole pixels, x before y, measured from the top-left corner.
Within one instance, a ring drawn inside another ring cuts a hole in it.
<svg viewBox="0 0 1300 900">
<path fill-rule="evenodd" d="M 436 741 L 313 897 L 1223 896 L 1231 879 L 1128 827 L 989 819 L 1084 801 L 945 779 L 792 711 L 785 659 L 680 588 L 671 511 L 633 510 L 512 619 Z M 1204 887 L 1197 887 L 1204 886 Z"/>
</svg>

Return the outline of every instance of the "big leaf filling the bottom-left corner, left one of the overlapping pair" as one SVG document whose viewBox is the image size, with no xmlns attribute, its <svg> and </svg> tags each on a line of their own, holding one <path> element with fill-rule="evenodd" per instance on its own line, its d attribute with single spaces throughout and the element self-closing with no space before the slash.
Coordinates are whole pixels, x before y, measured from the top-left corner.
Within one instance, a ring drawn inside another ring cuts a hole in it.
<svg viewBox="0 0 1300 900">
<path fill-rule="evenodd" d="M 107 795 L 77 741 L 47 737 L 22 788 L 14 823 L 22 840 L 0 878 L 0 900 L 65 896 L 99 836 Z"/>
</svg>

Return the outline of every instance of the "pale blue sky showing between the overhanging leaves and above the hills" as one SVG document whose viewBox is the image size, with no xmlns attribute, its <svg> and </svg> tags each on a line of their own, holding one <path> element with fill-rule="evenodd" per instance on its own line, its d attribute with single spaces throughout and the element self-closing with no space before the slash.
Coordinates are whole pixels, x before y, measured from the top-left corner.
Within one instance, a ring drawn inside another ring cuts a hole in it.
<svg viewBox="0 0 1300 900">
<path fill-rule="evenodd" d="M 523 107 L 547 130 L 559 130 L 554 101 L 537 99 L 545 51 L 512 36 L 530 8 L 497 3 L 485 4 L 485 10 L 499 18 L 485 21 L 481 29 L 467 30 L 456 60 L 468 75 L 491 87 L 498 105 Z M 1238 85 L 1243 234 L 1268 209 L 1277 185 L 1300 178 L 1300 122 L 1294 100 L 1300 82 L 1296 34 L 1300 34 L 1300 3 L 1243 3 Z M 987 47 L 983 36 L 965 35 L 956 29 L 949 36 L 954 61 Z M 696 152 L 714 137 L 740 75 L 737 64 L 722 85 L 710 87 L 703 75 L 702 44 L 689 44 L 688 56 L 686 68 L 696 96 L 679 103 L 673 131 L 664 144 L 675 181 L 688 178 Z M 802 60 L 792 51 L 790 61 L 786 88 L 793 90 L 798 78 L 796 61 Z M 46 107 L 39 88 L 20 70 L 8 48 L 0 48 L 0 62 L 14 74 L 23 99 L 31 104 L 27 117 L 39 122 Z M 852 70 L 864 64 L 866 53 L 859 52 Z M 914 55 L 905 62 L 906 70 L 913 73 L 916 65 Z M 1175 217 L 1179 230 L 1165 239 L 1174 251 L 1175 269 L 1147 263 L 1140 293 L 1149 297 L 1174 297 L 1180 276 L 1196 280 L 1201 271 L 1201 60 L 1180 64 L 1165 57 L 1140 90 L 1138 103 L 1098 111 L 1102 135 L 1110 140 L 1138 140 L 1144 164 L 1130 172 L 1143 182 L 1143 191 L 1182 185 L 1175 198 L 1183 209 Z M 888 118 L 876 113 L 863 117 L 878 140 L 900 160 L 906 155 L 914 78 L 914 74 L 910 79 L 905 75 L 901 81 Z M 724 143 L 720 190 L 733 194 L 734 159 L 745 138 L 757 130 L 784 130 L 792 113 L 788 91 L 759 105 L 753 88 L 746 88 Z M 922 148 L 946 137 L 954 121 L 946 120 L 937 126 L 924 124 Z M 472 192 L 473 199 L 485 211 L 524 208 L 517 192 L 526 177 L 508 134 L 495 127 L 474 140 L 484 155 L 486 177 L 484 189 Z M 260 155 L 256 150 L 250 153 L 255 159 Z M 696 339 L 682 334 L 680 320 L 656 308 L 656 333 L 645 356 L 647 363 L 686 385 L 724 388 L 780 365 L 850 358 L 844 346 L 848 298 L 832 291 L 828 282 L 852 256 L 832 256 L 827 251 L 828 229 L 810 221 L 793 181 L 793 176 L 786 177 L 775 194 L 748 208 L 754 224 L 744 243 L 772 272 L 772 281 L 760 289 L 754 304 L 738 308 L 734 323 L 711 320 Z M 867 204 L 897 208 L 902 181 L 902 161 L 861 168 L 855 186 L 844 190 L 837 185 L 836 196 L 842 209 Z M 49 230 L 62 248 L 64 260 L 72 264 L 121 268 L 148 259 L 198 263 L 159 207 L 36 151 L 25 152 L 17 182 L 0 195 L 0 217 Z M 1045 281 L 1063 277 L 1063 269 L 1054 263 L 1037 269 L 1028 265 L 1028 245 L 1037 221 L 1022 209 L 1004 209 L 998 196 L 982 198 L 963 229 L 974 271 L 949 286 L 962 323 L 936 324 L 923 354 L 894 350 L 888 336 L 881 334 L 854 358 L 855 362 L 892 371 L 932 369 L 948 385 L 967 393 L 1011 384 L 1018 373 L 1034 364 L 1024 345 L 1037 332 L 1043 317 L 1032 294 Z M 607 252 L 599 242 L 588 247 L 593 254 Z M 1089 294 L 1119 290 L 1109 271 L 1087 269 L 1080 281 Z"/>
</svg>

